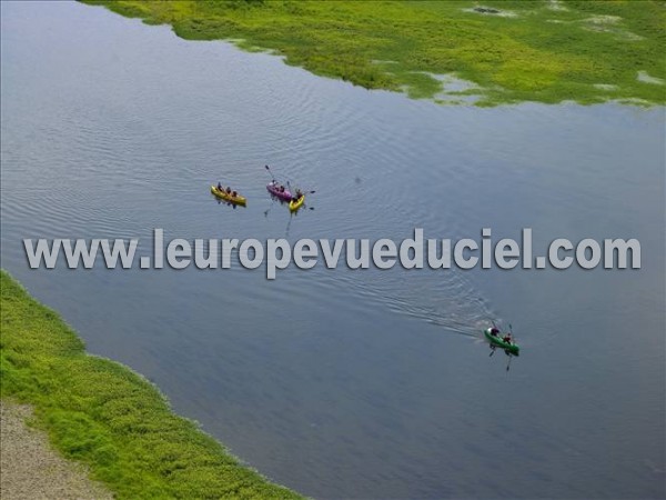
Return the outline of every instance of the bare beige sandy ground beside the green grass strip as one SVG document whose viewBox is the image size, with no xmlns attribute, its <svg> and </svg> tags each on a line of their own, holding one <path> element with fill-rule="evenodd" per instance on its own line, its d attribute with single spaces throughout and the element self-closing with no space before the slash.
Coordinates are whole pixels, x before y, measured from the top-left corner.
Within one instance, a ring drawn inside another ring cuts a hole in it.
<svg viewBox="0 0 666 500">
<path fill-rule="evenodd" d="M 47 434 L 29 428 L 29 406 L 0 401 L 0 498 L 111 499 L 84 466 L 59 456 Z"/>
</svg>

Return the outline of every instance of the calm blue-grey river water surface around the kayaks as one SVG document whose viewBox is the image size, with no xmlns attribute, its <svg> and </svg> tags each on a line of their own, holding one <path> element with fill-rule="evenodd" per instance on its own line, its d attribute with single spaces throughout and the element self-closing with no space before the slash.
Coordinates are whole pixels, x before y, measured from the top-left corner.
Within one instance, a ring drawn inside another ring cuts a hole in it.
<svg viewBox="0 0 666 500">
<path fill-rule="evenodd" d="M 447 108 L 2 2 L 2 266 L 320 498 L 664 497 L 664 109 Z M 316 194 L 290 217 L 270 163 Z M 233 210 L 209 186 L 249 198 Z M 28 269 L 23 238 L 638 238 L 640 271 Z M 512 322 L 506 371 L 480 329 Z"/>
</svg>

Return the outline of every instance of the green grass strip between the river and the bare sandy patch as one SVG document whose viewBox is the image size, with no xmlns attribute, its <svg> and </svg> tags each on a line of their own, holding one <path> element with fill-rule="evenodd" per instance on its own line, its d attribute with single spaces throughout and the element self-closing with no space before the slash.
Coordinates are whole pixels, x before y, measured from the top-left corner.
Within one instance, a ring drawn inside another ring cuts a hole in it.
<svg viewBox="0 0 666 500">
<path fill-rule="evenodd" d="M 77 334 L 0 272 L 2 398 L 32 404 L 65 457 L 117 498 L 299 498 L 243 467 L 171 412 L 128 368 L 89 356 Z"/>
</svg>

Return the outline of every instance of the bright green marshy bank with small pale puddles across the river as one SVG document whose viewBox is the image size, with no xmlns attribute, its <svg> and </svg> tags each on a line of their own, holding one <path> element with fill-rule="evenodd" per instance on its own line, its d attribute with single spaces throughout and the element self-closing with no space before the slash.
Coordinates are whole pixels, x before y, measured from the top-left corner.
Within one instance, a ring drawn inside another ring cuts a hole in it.
<svg viewBox="0 0 666 500">
<path fill-rule="evenodd" d="M 663 0 L 83 1 L 414 98 L 666 103 Z"/>
</svg>

